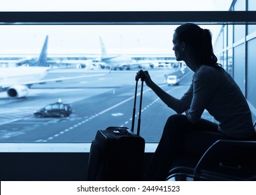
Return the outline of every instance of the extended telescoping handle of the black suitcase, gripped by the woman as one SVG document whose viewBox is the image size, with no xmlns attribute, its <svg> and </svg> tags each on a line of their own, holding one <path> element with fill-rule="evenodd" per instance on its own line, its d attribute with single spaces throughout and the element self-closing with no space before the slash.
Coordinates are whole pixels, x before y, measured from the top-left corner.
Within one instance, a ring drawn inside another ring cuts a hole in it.
<svg viewBox="0 0 256 195">
<path fill-rule="evenodd" d="M 137 88 L 138 88 L 138 75 L 136 75 L 135 80 L 135 95 L 134 95 L 134 109 L 132 112 L 132 120 L 131 120 L 131 132 L 134 132 L 134 121 L 135 121 L 135 113 L 136 113 L 136 98 L 137 98 Z M 138 126 L 137 126 L 137 135 L 140 134 L 141 130 L 141 104 L 142 104 L 142 95 L 143 95 L 143 77 L 141 77 L 141 98 L 140 98 L 140 105 L 138 111 Z"/>
</svg>

